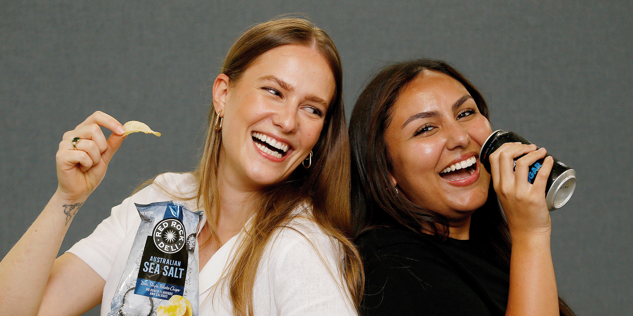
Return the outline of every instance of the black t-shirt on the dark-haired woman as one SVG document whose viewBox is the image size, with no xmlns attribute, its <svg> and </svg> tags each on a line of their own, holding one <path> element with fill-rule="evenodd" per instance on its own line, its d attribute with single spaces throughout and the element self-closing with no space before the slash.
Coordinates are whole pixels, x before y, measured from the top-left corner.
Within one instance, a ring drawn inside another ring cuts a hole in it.
<svg viewBox="0 0 633 316">
<path fill-rule="evenodd" d="M 365 315 L 504 315 L 509 276 L 470 240 L 395 228 L 361 234 Z"/>
</svg>

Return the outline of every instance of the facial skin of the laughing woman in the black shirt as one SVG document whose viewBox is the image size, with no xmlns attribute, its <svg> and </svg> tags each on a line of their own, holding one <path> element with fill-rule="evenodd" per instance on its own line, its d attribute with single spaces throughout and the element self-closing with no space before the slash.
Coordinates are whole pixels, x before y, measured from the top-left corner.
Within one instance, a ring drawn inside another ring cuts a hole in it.
<svg viewBox="0 0 633 316">
<path fill-rule="evenodd" d="M 472 98 L 452 108 L 464 95 L 468 92 L 457 80 L 423 71 L 400 93 L 384 135 L 393 166 L 392 181 L 399 191 L 420 207 L 439 212 L 454 222 L 467 221 L 472 212 L 484 205 L 490 184 L 490 175 L 479 159 L 479 175 L 469 185 L 457 186 L 439 176 L 455 159 L 478 155 L 492 133 L 489 121 Z M 410 116 L 420 112 L 437 115 L 415 119 L 402 127 Z M 425 132 L 414 136 L 422 128 L 426 128 Z"/>
</svg>

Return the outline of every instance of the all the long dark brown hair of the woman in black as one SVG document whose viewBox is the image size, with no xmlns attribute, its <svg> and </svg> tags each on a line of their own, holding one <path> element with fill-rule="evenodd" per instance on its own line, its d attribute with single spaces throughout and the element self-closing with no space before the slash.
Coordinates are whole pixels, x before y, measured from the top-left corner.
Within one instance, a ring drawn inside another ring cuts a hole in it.
<svg viewBox="0 0 633 316">
<path fill-rule="evenodd" d="M 391 123 L 393 106 L 398 95 L 423 71 L 435 71 L 460 82 L 489 119 L 486 100 L 461 73 L 450 64 L 434 59 L 417 59 L 385 66 L 373 77 L 356 101 L 349 122 L 352 152 L 352 190 L 354 230 L 399 226 L 417 234 L 431 232 L 437 240 L 448 236 L 448 219 L 432 210 L 423 209 L 396 193 L 389 180 L 391 162 L 384 142 L 384 132 Z M 486 204 L 471 217 L 470 239 L 489 255 L 502 270 L 510 272 L 511 241 L 508 223 L 497 203 L 492 185 Z M 560 315 L 575 315 L 558 298 Z"/>
</svg>

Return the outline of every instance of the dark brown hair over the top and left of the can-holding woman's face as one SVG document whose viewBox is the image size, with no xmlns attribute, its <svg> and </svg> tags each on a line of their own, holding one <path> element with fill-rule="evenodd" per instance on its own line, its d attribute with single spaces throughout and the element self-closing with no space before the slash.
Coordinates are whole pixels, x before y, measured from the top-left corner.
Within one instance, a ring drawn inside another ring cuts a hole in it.
<svg viewBox="0 0 633 316">
<path fill-rule="evenodd" d="M 432 59 L 420 59 L 383 68 L 367 85 L 356 101 L 349 122 L 352 148 L 353 202 L 356 227 L 398 223 L 411 231 L 430 230 L 444 235 L 448 221 L 444 216 L 422 209 L 402 195 L 396 194 L 389 180 L 391 162 L 387 158 L 384 131 L 391 123 L 392 107 L 408 83 L 423 70 L 445 73 L 460 82 L 473 97 L 479 111 L 489 117 L 482 95 L 466 78 L 449 64 Z M 429 225 L 429 223 L 440 224 Z"/>
</svg>

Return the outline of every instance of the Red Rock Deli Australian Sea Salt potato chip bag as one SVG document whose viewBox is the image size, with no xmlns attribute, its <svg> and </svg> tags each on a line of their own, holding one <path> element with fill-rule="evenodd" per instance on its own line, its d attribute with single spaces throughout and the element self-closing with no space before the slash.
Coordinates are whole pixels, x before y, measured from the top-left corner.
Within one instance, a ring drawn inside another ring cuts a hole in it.
<svg viewBox="0 0 633 316">
<path fill-rule="evenodd" d="M 135 204 L 141 224 L 108 316 L 197 316 L 196 229 L 184 204 Z"/>
</svg>

